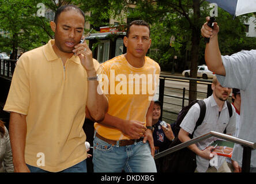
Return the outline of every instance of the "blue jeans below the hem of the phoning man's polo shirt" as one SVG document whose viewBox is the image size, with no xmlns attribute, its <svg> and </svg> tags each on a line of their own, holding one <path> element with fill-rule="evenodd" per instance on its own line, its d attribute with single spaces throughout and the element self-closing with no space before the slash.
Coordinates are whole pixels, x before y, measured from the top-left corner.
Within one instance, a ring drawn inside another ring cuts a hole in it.
<svg viewBox="0 0 256 184">
<path fill-rule="evenodd" d="M 39 167 L 30 166 L 28 164 L 27 166 L 31 173 L 50 173 L 49 171 L 43 170 Z M 77 163 L 76 165 L 69 168 L 66 168 L 63 171 L 59 171 L 58 173 L 87 173 L 86 160 L 83 160 L 82 162 Z"/>
</svg>

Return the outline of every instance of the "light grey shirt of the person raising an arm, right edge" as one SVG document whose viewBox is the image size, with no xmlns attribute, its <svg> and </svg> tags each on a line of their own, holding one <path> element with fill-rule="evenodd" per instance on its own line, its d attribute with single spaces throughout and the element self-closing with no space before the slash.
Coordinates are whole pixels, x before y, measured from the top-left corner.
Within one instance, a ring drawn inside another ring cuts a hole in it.
<svg viewBox="0 0 256 184">
<path fill-rule="evenodd" d="M 240 128 L 238 138 L 256 143 L 256 50 L 222 56 L 226 76 L 217 75 L 221 86 L 240 89 Z M 242 166 L 243 149 L 235 144 L 232 159 Z M 256 167 L 256 150 L 251 152 L 251 167 Z"/>
</svg>

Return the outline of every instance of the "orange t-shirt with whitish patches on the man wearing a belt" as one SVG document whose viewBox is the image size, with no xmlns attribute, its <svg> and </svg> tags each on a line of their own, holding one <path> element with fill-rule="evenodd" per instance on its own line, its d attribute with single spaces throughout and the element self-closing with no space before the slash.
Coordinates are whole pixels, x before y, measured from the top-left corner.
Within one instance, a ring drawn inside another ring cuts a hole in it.
<svg viewBox="0 0 256 184">
<path fill-rule="evenodd" d="M 103 91 L 108 98 L 108 114 L 146 125 L 146 113 L 159 82 L 160 66 L 149 57 L 141 68 L 131 66 L 124 55 L 101 64 Z M 97 133 L 106 139 L 130 139 L 116 128 L 95 123 Z"/>
</svg>

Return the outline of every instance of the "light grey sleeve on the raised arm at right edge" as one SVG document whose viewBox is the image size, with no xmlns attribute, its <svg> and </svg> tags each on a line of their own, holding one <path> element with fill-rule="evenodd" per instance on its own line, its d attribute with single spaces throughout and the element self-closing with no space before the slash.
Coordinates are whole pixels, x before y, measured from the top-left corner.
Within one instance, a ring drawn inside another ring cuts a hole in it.
<svg viewBox="0 0 256 184">
<path fill-rule="evenodd" d="M 220 84 L 224 87 L 245 90 L 251 79 L 250 75 L 254 72 L 252 70 L 255 68 L 253 65 L 256 60 L 256 51 L 241 51 L 231 56 L 221 56 L 221 58 L 226 75 L 216 75 Z"/>
</svg>

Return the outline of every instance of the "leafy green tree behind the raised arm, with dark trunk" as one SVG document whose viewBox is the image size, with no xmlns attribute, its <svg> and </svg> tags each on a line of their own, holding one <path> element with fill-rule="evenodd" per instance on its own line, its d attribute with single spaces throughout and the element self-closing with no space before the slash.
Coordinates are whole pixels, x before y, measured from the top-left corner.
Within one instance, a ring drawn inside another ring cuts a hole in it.
<svg viewBox="0 0 256 184">
<path fill-rule="evenodd" d="M 190 77 L 197 78 L 197 66 L 204 62 L 205 41 L 201 37 L 201 26 L 205 17 L 209 16 L 211 8 L 204 0 L 137 0 L 133 11 L 138 17 L 152 25 L 152 48 L 159 48 L 160 52 L 150 53 L 161 63 L 170 63 L 174 55 L 190 62 Z M 220 49 L 223 54 L 234 53 L 237 45 L 242 45 L 246 39 L 243 21 L 250 15 L 233 17 L 222 9 L 218 9 L 217 22 L 221 26 L 219 33 Z M 169 46 L 170 37 L 175 36 L 174 48 Z M 242 48 L 242 47 L 241 47 Z M 255 48 L 255 46 L 254 46 Z M 164 64 L 166 66 L 166 64 Z M 182 68 L 183 66 L 181 66 Z M 197 84 L 190 82 L 190 101 L 197 98 Z"/>
</svg>

